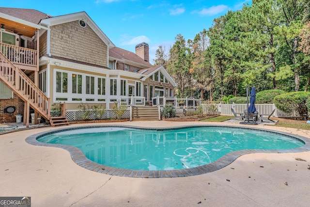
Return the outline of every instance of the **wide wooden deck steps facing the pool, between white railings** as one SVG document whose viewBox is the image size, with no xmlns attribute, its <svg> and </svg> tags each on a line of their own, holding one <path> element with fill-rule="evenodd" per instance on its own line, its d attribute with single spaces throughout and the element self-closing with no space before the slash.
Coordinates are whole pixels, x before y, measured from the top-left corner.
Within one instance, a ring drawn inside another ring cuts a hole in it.
<svg viewBox="0 0 310 207">
<path fill-rule="evenodd" d="M 157 107 L 132 107 L 132 121 L 158 121 Z"/>
</svg>

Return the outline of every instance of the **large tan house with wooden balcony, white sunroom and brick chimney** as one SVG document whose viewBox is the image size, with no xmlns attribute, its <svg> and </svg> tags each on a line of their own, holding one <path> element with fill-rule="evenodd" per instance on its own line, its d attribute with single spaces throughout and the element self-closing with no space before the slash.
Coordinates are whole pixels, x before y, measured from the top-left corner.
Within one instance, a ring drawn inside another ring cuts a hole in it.
<svg viewBox="0 0 310 207">
<path fill-rule="evenodd" d="M 32 9 L 0 7 L 0 119 L 22 114 L 50 120 L 53 103 L 115 101 L 152 106 L 154 96 L 173 96 L 176 83 L 163 66 L 149 62 L 149 45 L 136 53 L 116 47 L 85 12 L 49 16 Z"/>
</svg>

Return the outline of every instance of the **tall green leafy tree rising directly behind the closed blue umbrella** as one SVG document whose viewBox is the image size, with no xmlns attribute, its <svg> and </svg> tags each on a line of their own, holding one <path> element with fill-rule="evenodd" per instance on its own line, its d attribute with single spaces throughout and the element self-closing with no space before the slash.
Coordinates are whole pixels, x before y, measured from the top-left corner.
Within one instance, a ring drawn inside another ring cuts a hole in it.
<svg viewBox="0 0 310 207">
<path fill-rule="evenodd" d="M 241 27 L 244 30 L 243 44 L 247 47 L 246 54 L 249 70 L 252 75 L 267 72 L 272 78 L 273 88 L 277 89 L 276 51 L 278 46 L 279 9 L 274 0 L 253 0 L 251 6 L 244 6 L 241 11 Z"/>
</svg>

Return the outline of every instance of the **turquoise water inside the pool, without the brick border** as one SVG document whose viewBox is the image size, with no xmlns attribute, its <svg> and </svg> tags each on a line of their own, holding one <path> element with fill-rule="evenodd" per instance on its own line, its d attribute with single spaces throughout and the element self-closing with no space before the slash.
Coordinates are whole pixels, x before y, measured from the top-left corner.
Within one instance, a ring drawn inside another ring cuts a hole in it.
<svg viewBox="0 0 310 207">
<path fill-rule="evenodd" d="M 37 140 L 75 146 L 99 164 L 156 171 L 206 165 L 238 150 L 280 150 L 304 145 L 278 133 L 229 127 L 174 130 L 97 127 L 56 132 Z"/>
</svg>

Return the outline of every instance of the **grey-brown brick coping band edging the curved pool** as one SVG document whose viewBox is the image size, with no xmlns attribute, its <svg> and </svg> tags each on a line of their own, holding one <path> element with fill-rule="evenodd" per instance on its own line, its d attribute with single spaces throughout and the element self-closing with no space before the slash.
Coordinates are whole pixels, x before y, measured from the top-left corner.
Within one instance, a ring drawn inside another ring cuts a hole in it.
<svg viewBox="0 0 310 207">
<path fill-rule="evenodd" d="M 199 167 L 188 168 L 188 169 L 181 169 L 181 170 L 129 170 L 129 169 L 121 169 L 110 167 L 107 165 L 98 164 L 96 162 L 91 161 L 90 159 L 86 158 L 83 152 L 74 146 L 64 145 L 64 144 L 52 144 L 52 143 L 41 143 L 37 141 L 37 139 L 56 132 L 61 131 L 68 131 L 68 130 L 75 130 L 75 129 L 83 129 L 83 128 L 100 128 L 100 127 L 124 127 L 124 128 L 131 128 L 131 129 L 154 129 L 154 130 L 171 130 L 171 129 L 182 129 L 182 128 L 193 128 L 193 127 L 225 127 L 225 128 L 240 128 L 240 129 L 247 129 L 247 130 L 255 130 L 255 131 L 263 131 L 263 132 L 270 132 L 280 135 L 285 135 L 290 137 L 291 139 L 298 140 L 302 143 L 305 143 L 304 146 L 294 148 L 294 149 L 280 149 L 280 150 L 239 150 L 230 152 L 220 159 L 207 164 L 202 165 Z M 83 127 L 66 127 L 61 129 L 53 129 L 48 132 L 41 132 L 38 134 L 33 134 L 26 138 L 25 140 L 27 143 L 37 146 L 49 146 L 49 147 L 57 147 L 67 150 L 72 160 L 77 163 L 79 166 L 86 168 L 88 170 L 92 170 L 94 172 L 103 173 L 107 175 L 117 175 L 117 176 L 124 176 L 124 177 L 139 177 L 139 178 L 163 178 L 163 177 L 185 177 L 185 176 L 192 176 L 192 175 L 202 175 L 210 172 L 217 171 L 230 163 L 232 163 L 235 159 L 242 155 L 251 154 L 251 153 L 295 153 L 295 152 L 306 152 L 310 151 L 310 141 L 306 137 L 293 135 L 290 133 L 285 133 L 276 130 L 265 130 L 259 128 L 248 128 L 248 127 L 237 127 L 237 126 L 223 126 L 223 125 L 191 125 L 191 126 L 182 126 L 182 127 L 133 127 L 133 126 L 125 126 L 125 125 L 95 125 L 95 126 L 83 126 Z"/>
</svg>

